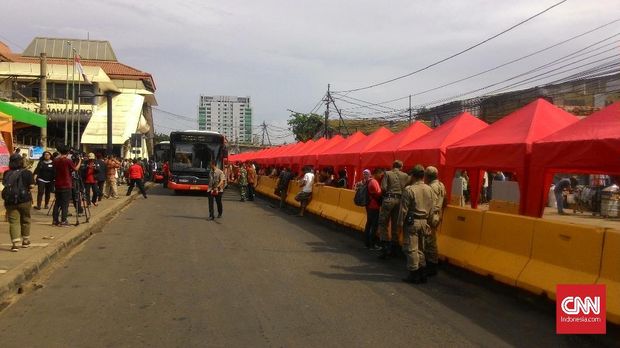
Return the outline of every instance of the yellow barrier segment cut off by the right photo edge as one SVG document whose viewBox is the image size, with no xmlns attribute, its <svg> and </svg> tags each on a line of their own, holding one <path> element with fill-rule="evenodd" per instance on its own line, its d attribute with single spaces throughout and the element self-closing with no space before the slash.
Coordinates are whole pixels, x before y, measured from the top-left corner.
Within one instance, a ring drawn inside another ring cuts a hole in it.
<svg viewBox="0 0 620 348">
<path fill-rule="evenodd" d="M 601 275 L 597 284 L 607 290 L 607 320 L 620 324 L 620 231 L 606 230 Z"/>
</svg>

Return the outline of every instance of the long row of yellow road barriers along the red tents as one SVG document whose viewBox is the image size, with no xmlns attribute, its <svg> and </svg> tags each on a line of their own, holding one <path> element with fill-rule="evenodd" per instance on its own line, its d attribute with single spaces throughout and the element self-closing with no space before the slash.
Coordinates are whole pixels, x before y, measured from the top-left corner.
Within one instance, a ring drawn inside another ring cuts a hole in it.
<svg viewBox="0 0 620 348">
<path fill-rule="evenodd" d="M 257 188 L 275 197 L 275 179 Z M 289 185 L 287 203 L 299 187 Z M 366 212 L 355 191 L 316 185 L 312 214 L 363 231 Z M 448 206 L 437 236 L 440 257 L 502 283 L 555 299 L 557 284 L 605 284 L 607 318 L 620 324 L 620 231 Z"/>
</svg>

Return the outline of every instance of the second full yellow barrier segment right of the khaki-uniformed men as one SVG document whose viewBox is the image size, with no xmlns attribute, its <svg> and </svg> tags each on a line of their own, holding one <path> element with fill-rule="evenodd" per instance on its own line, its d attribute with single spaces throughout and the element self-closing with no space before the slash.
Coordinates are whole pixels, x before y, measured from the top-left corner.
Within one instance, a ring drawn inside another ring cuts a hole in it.
<svg viewBox="0 0 620 348">
<path fill-rule="evenodd" d="M 526 216 L 484 213 L 480 245 L 468 268 L 515 286 L 532 253 L 535 222 Z"/>
</svg>

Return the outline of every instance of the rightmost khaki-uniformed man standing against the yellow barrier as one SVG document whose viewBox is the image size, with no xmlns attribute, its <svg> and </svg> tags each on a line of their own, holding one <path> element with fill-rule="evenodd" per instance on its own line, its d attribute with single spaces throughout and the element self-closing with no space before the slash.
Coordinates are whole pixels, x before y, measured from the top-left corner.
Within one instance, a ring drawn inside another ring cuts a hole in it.
<svg viewBox="0 0 620 348">
<path fill-rule="evenodd" d="M 431 234 L 424 239 L 424 254 L 426 256 L 426 275 L 432 277 L 437 275 L 437 265 L 439 263 L 437 251 L 437 230 L 443 216 L 443 208 L 446 201 L 446 187 L 439 181 L 439 171 L 435 167 L 426 167 L 424 172 L 426 182 L 433 191 L 433 210 L 430 213 L 428 224 Z"/>
</svg>

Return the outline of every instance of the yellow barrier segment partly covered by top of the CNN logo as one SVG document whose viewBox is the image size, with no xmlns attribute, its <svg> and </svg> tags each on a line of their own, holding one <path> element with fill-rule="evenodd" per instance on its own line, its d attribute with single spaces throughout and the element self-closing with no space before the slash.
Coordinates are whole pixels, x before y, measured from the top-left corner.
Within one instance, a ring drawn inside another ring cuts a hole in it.
<svg viewBox="0 0 620 348">
<path fill-rule="evenodd" d="M 594 284 L 601 268 L 603 235 L 599 227 L 537 219 L 532 256 L 517 286 L 555 299 L 557 284 Z"/>
</svg>

